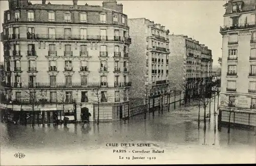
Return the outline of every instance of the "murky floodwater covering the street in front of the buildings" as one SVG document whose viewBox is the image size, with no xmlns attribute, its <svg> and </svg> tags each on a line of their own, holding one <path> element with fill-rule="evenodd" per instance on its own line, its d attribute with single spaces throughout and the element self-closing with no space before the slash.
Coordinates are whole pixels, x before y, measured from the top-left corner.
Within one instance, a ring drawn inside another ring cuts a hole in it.
<svg viewBox="0 0 256 166">
<path fill-rule="evenodd" d="M 197 106 L 99 125 L 1 123 L 1 165 L 256 163 L 255 131 L 214 132 L 214 116 L 204 131 L 200 115 L 200 128 Z"/>
</svg>

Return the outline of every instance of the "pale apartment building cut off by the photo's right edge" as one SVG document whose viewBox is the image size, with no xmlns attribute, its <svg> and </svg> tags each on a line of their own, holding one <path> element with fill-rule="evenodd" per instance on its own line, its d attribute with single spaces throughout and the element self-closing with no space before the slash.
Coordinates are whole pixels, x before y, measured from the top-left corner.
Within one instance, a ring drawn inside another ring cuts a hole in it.
<svg viewBox="0 0 256 166">
<path fill-rule="evenodd" d="M 256 1 L 224 5 L 220 121 L 256 126 Z"/>
</svg>

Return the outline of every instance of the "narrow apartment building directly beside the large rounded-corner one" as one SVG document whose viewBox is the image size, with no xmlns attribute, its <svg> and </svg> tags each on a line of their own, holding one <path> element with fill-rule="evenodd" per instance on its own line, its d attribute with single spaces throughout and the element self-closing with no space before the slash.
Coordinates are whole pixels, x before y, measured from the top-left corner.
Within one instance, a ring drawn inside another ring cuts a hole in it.
<svg viewBox="0 0 256 166">
<path fill-rule="evenodd" d="M 167 102 L 169 39 L 165 26 L 145 18 L 129 19 L 131 87 L 130 102 L 132 114 L 144 112 L 140 106 L 149 105 L 149 109 Z M 160 96 L 165 96 L 161 100 Z"/>
</svg>

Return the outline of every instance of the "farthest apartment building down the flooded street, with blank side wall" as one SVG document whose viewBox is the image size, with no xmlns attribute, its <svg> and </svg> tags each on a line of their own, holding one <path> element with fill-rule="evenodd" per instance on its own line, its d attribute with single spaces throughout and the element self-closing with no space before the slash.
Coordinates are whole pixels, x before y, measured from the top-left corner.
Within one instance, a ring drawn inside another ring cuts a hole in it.
<svg viewBox="0 0 256 166">
<path fill-rule="evenodd" d="M 184 102 L 197 97 L 200 86 L 211 83 L 212 54 L 204 44 L 184 35 L 169 35 L 169 80 L 185 93 Z M 208 87 L 209 88 L 209 87 Z"/>
</svg>

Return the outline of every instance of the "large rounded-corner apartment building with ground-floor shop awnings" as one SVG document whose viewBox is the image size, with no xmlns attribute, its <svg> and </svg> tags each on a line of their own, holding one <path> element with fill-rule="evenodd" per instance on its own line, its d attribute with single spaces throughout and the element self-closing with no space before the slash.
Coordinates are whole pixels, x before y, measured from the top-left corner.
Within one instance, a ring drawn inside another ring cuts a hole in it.
<svg viewBox="0 0 256 166">
<path fill-rule="evenodd" d="M 10 121 L 80 121 L 89 113 L 95 121 L 98 112 L 106 121 L 129 116 L 131 38 L 122 4 L 9 1 L 3 31 L 1 106 Z"/>
</svg>

